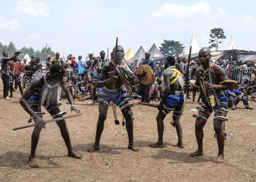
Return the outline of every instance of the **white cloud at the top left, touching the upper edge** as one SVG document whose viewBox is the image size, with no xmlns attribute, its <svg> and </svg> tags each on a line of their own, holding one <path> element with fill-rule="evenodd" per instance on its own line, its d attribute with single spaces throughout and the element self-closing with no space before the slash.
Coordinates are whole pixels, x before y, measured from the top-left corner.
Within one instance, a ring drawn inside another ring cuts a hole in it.
<svg viewBox="0 0 256 182">
<path fill-rule="evenodd" d="M 49 16 L 51 6 L 44 2 L 33 2 L 31 0 L 20 0 L 16 3 L 15 10 L 32 16 Z"/>
</svg>

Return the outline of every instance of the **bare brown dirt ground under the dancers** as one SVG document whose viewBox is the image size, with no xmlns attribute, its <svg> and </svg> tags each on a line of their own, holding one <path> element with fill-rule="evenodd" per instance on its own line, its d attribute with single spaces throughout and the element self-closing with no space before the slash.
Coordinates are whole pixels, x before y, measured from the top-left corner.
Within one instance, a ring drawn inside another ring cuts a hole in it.
<svg viewBox="0 0 256 182">
<path fill-rule="evenodd" d="M 198 96 L 198 95 L 197 95 Z M 198 158 L 189 154 L 197 149 L 194 134 L 194 112 L 197 103 L 191 100 L 185 105 L 181 124 L 185 148 L 176 146 L 177 133 L 165 119 L 164 144 L 161 149 L 148 145 L 157 141 L 156 115 L 158 110 L 132 100 L 135 144 L 138 152 L 127 149 L 128 137 L 124 126 L 115 125 L 112 108 L 109 107 L 105 128 L 100 141 L 101 150 L 88 153 L 94 142 L 98 105 L 88 105 L 90 100 L 76 106 L 84 115 L 67 120 L 71 143 L 82 159 L 67 155 L 67 149 L 56 123 L 48 123 L 42 130 L 37 148 L 40 168 L 28 166 L 30 137 L 33 128 L 12 131 L 12 128 L 27 124 L 27 114 L 19 104 L 19 92 L 11 101 L 3 100 L 3 82 L 0 81 L 0 181 L 256 181 L 256 102 L 249 101 L 253 111 L 229 110 L 226 122 L 228 139 L 225 141 L 225 161 L 213 163 L 218 146 L 214 138 L 213 116 L 204 127 L 204 155 Z M 70 105 L 62 101 L 61 111 L 71 114 Z M 45 111 L 45 110 L 44 110 Z M 67 114 L 67 115 L 68 115 Z M 45 114 L 44 119 L 50 119 Z M 118 109 L 118 119 L 122 121 Z M 113 148 L 118 148 L 114 150 Z"/>
</svg>

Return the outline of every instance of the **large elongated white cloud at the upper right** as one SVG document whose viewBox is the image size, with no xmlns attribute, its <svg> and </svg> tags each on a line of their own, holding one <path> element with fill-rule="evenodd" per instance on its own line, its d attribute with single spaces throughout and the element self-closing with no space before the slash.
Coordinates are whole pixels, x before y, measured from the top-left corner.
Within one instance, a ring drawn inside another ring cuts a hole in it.
<svg viewBox="0 0 256 182">
<path fill-rule="evenodd" d="M 208 15 L 211 12 L 210 5 L 207 2 L 199 2 L 192 6 L 179 6 L 176 4 L 165 3 L 156 12 L 153 12 L 154 18 L 191 18 L 194 15 Z"/>
</svg>

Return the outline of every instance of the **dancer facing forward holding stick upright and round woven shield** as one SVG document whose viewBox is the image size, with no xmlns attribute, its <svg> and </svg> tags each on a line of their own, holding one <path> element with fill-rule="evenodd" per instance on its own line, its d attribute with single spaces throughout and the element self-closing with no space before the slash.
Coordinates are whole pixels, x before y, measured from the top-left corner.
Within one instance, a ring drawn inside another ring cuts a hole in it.
<svg viewBox="0 0 256 182">
<path fill-rule="evenodd" d="M 117 72 L 118 69 L 123 66 L 127 66 L 127 64 L 123 61 L 124 59 L 124 48 L 121 46 L 117 47 L 117 50 L 114 48 L 113 53 L 117 51 Z M 131 66 L 129 65 L 129 69 L 131 69 Z M 106 96 L 101 97 L 103 99 L 103 102 L 99 103 L 99 118 L 97 122 L 97 129 L 96 129 L 96 136 L 95 136 L 95 142 L 92 145 L 90 149 L 88 149 L 89 152 L 94 152 L 94 150 L 100 150 L 100 137 L 104 129 L 104 122 L 106 120 L 107 111 L 109 108 L 109 103 L 112 101 L 117 106 L 120 107 L 121 112 L 123 113 L 123 116 L 126 120 L 126 129 L 128 133 L 129 138 L 129 144 L 128 148 L 133 151 L 138 151 L 138 147 L 135 147 L 133 143 L 133 121 L 132 121 L 132 114 L 131 110 L 129 108 L 130 104 L 126 101 L 124 101 L 125 98 L 121 97 L 123 94 L 126 93 L 125 90 L 122 90 L 121 86 L 123 85 L 124 81 L 127 81 L 125 78 L 124 80 L 121 80 L 120 76 L 113 76 L 113 60 L 107 62 L 100 73 L 99 78 L 97 79 L 97 88 L 102 88 L 98 91 L 99 93 L 106 94 Z M 127 69 L 126 69 L 127 70 Z M 117 75 L 119 75 L 120 72 L 118 72 Z M 132 71 L 131 71 L 131 74 Z M 138 79 L 135 79 L 135 83 L 138 82 Z M 115 88 L 113 88 L 113 83 L 115 83 Z M 129 84 L 129 83 L 128 83 Z M 128 85 L 127 85 L 128 87 Z M 131 86 L 130 86 L 131 88 Z"/>
</svg>

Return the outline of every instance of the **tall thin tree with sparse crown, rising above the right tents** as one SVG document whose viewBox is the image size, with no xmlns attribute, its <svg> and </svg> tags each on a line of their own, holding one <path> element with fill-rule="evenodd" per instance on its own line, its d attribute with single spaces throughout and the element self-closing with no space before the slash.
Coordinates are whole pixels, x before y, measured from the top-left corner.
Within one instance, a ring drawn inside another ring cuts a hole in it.
<svg viewBox="0 0 256 182">
<path fill-rule="evenodd" d="M 208 42 L 209 44 L 211 44 L 209 46 L 210 49 L 212 49 L 213 47 L 216 48 L 216 50 L 218 51 L 219 48 L 219 44 L 222 43 L 222 40 L 226 39 L 226 35 L 224 35 L 224 31 L 222 28 L 214 28 L 211 29 L 211 34 L 210 34 L 210 41 Z"/>
</svg>

